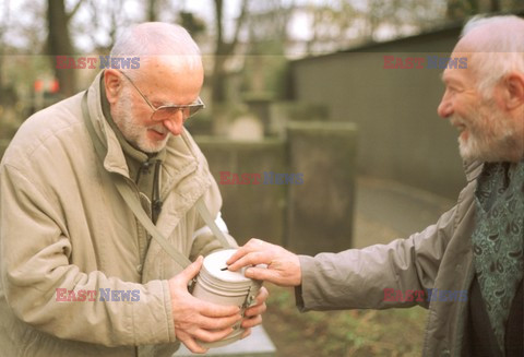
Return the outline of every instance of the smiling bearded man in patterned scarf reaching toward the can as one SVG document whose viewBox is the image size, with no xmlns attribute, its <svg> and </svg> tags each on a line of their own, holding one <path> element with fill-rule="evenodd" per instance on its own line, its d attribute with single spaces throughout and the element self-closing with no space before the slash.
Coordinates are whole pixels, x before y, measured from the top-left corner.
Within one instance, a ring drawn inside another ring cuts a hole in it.
<svg viewBox="0 0 524 357">
<path fill-rule="evenodd" d="M 467 186 L 432 226 L 389 245 L 313 257 L 252 239 L 228 261 L 295 286 L 300 310 L 429 309 L 424 356 L 524 356 L 524 20 L 474 19 L 438 112 L 458 132 Z"/>
</svg>

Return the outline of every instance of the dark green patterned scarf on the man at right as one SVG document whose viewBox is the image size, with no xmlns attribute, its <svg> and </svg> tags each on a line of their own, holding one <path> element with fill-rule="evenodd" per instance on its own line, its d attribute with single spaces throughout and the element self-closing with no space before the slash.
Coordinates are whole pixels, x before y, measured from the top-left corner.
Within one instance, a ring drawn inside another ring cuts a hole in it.
<svg viewBox="0 0 524 357">
<path fill-rule="evenodd" d="M 524 275 L 524 160 L 485 164 L 475 192 L 474 264 L 500 349 Z"/>
</svg>

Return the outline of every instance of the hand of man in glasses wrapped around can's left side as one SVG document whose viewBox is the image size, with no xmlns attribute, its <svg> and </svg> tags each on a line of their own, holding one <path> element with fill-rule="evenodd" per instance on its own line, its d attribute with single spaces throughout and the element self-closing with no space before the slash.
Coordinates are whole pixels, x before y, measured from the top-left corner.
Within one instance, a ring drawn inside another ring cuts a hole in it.
<svg viewBox="0 0 524 357">
<path fill-rule="evenodd" d="M 233 332 L 242 318 L 237 306 L 221 306 L 193 297 L 188 291 L 188 283 L 196 276 L 202 267 L 203 258 L 193 262 L 169 282 L 171 294 L 172 319 L 177 338 L 193 353 L 205 353 L 207 349 L 198 344 L 215 342 Z"/>
</svg>

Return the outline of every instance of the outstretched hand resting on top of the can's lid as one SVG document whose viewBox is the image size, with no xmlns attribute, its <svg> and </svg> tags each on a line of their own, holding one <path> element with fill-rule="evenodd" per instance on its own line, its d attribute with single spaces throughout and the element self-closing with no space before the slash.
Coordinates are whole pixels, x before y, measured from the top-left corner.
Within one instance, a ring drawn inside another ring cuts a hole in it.
<svg viewBox="0 0 524 357">
<path fill-rule="evenodd" d="M 243 266 L 266 264 L 267 267 L 248 267 L 245 275 L 279 286 L 299 286 L 302 279 L 298 255 L 255 238 L 240 247 L 226 263 L 233 272 Z"/>
</svg>

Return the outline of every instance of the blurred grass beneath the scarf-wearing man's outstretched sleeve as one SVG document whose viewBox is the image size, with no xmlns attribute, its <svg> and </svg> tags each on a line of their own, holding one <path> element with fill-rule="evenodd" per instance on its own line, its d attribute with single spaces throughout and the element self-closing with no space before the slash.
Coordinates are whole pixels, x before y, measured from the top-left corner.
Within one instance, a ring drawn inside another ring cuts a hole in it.
<svg viewBox="0 0 524 357">
<path fill-rule="evenodd" d="M 300 313 L 294 291 L 270 287 L 264 328 L 278 356 L 420 356 L 422 308 Z"/>
</svg>

